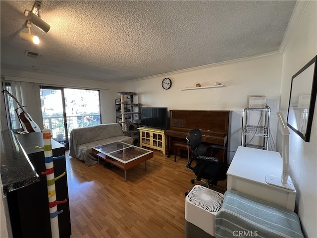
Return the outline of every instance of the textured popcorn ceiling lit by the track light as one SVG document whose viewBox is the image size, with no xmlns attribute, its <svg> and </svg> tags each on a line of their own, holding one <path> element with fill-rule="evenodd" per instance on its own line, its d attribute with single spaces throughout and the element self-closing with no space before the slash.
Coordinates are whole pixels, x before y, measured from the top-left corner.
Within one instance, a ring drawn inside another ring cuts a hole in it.
<svg viewBox="0 0 317 238">
<path fill-rule="evenodd" d="M 42 1 L 48 33 L 24 10 L 34 1 L 3 1 L 1 65 L 122 82 L 278 51 L 296 1 Z M 25 50 L 41 53 L 39 59 Z"/>
</svg>

